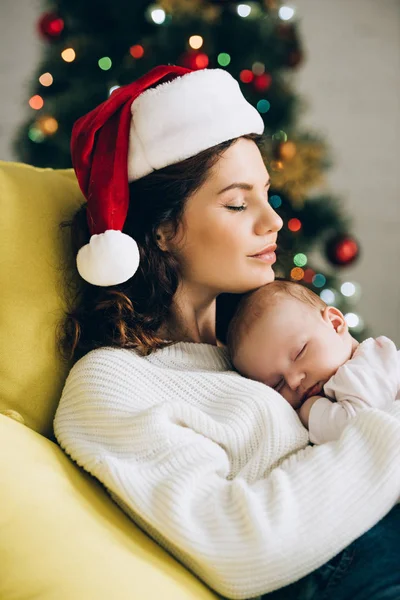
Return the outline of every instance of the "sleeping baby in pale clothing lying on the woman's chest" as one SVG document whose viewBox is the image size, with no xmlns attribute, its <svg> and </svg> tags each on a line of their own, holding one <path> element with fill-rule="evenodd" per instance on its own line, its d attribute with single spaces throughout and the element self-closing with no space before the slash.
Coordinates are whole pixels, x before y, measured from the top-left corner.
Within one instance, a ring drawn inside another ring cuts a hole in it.
<svg viewBox="0 0 400 600">
<path fill-rule="evenodd" d="M 310 441 L 337 439 L 360 410 L 400 398 L 400 352 L 387 337 L 359 344 L 343 314 L 303 285 L 275 280 L 240 301 L 227 346 L 235 368 L 274 388 Z"/>
</svg>

